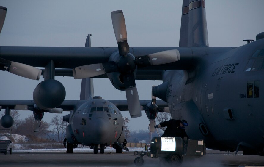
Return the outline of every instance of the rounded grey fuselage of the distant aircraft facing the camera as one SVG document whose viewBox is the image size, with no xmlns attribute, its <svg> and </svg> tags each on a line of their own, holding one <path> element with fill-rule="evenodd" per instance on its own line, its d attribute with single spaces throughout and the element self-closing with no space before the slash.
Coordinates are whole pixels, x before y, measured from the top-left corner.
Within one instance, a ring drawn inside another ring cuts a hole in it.
<svg viewBox="0 0 264 167">
<path fill-rule="evenodd" d="M 121 141 L 124 121 L 118 108 L 103 99 L 88 100 L 69 115 L 67 141 L 72 144 L 104 144 Z"/>
</svg>

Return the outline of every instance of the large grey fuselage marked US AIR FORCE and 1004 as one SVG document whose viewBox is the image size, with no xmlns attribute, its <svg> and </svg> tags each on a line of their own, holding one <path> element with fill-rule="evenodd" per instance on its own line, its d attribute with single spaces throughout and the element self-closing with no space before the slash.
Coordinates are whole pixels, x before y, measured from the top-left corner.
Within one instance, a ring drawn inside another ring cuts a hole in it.
<svg viewBox="0 0 264 167">
<path fill-rule="evenodd" d="M 264 39 L 219 54 L 199 49 L 194 70 L 163 74 L 172 118 L 186 119 L 189 137 L 207 148 L 263 151 Z"/>
</svg>

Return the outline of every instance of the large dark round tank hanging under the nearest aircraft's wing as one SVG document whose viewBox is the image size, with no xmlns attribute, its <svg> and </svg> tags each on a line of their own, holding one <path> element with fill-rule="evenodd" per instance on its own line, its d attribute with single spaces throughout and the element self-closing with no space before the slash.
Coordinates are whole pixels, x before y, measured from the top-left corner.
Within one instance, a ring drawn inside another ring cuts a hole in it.
<svg viewBox="0 0 264 167">
<path fill-rule="evenodd" d="M 42 81 L 33 92 L 35 104 L 45 110 L 56 108 L 62 104 L 66 91 L 62 83 L 54 79 Z"/>
</svg>

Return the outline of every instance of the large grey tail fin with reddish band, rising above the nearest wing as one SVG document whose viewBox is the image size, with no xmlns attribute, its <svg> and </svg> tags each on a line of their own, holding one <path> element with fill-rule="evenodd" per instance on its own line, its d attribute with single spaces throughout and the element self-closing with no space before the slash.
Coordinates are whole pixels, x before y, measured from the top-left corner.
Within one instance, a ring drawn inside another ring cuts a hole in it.
<svg viewBox="0 0 264 167">
<path fill-rule="evenodd" d="M 205 0 L 183 0 L 179 46 L 209 46 Z"/>
</svg>

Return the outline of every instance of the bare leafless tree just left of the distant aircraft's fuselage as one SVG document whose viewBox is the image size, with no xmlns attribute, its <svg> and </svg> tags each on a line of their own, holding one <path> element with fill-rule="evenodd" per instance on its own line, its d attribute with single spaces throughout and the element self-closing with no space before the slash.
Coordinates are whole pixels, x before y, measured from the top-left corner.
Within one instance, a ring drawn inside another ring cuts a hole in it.
<svg viewBox="0 0 264 167">
<path fill-rule="evenodd" d="M 55 115 L 51 119 L 51 125 L 54 126 L 51 133 L 58 137 L 58 141 L 62 141 L 66 136 L 66 134 L 65 134 L 66 122 L 63 121 L 63 117 L 59 116 L 59 115 Z"/>
</svg>

